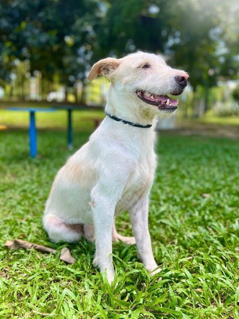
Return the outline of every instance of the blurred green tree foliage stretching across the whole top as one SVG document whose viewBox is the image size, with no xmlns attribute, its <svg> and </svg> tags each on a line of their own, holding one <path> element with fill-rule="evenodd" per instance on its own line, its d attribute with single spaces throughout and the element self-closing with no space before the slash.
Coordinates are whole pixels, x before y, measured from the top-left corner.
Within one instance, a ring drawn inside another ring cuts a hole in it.
<svg viewBox="0 0 239 319">
<path fill-rule="evenodd" d="M 73 86 L 100 57 L 141 49 L 165 53 L 207 99 L 219 78 L 238 76 L 238 13 L 237 0 L 2 0 L 0 84 L 16 59 Z"/>
</svg>

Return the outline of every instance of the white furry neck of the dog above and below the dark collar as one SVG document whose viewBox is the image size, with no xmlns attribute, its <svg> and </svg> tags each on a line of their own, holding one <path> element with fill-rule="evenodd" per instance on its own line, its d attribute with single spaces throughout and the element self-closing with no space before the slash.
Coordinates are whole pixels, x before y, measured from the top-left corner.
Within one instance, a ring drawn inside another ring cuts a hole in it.
<svg viewBox="0 0 239 319">
<path fill-rule="evenodd" d="M 152 125 L 149 128 L 138 128 L 117 122 L 106 116 L 99 128 L 106 132 L 108 139 L 112 138 L 117 141 L 129 152 L 132 152 L 138 160 L 152 156 L 155 140 L 154 129 L 157 122 L 154 114 L 145 112 L 145 109 L 141 108 L 133 96 L 123 94 L 123 91 L 112 85 L 108 91 L 105 111 L 128 122 Z"/>
</svg>

